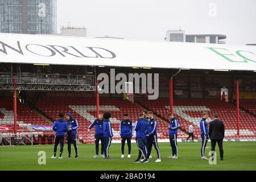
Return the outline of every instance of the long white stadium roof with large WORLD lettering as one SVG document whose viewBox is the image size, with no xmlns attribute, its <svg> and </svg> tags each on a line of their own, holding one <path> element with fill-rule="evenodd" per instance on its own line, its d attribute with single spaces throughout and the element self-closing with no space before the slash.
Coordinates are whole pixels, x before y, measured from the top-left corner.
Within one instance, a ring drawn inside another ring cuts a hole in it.
<svg viewBox="0 0 256 182">
<path fill-rule="evenodd" d="M 256 47 L 0 34 L 0 63 L 255 71 Z"/>
</svg>

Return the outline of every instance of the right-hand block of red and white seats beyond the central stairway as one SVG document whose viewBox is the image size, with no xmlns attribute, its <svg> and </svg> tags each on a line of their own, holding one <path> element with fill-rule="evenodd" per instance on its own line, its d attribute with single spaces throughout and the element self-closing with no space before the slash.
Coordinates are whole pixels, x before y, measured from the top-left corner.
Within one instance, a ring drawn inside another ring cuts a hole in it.
<svg viewBox="0 0 256 182">
<path fill-rule="evenodd" d="M 169 101 L 167 99 L 158 99 L 154 102 L 144 99 L 138 99 L 137 101 L 167 119 L 167 113 L 169 112 Z M 203 111 L 208 111 L 211 117 L 207 121 L 213 119 L 213 113 L 218 113 L 225 124 L 226 138 L 238 137 L 236 135 L 236 106 L 220 100 L 174 100 L 174 113 L 177 115 L 181 129 L 188 132 L 190 122 L 194 122 L 196 125 L 194 132 L 196 138 L 200 138 L 199 123 Z M 243 110 L 240 110 L 240 117 L 240 134 L 242 135 L 240 138 L 254 138 L 256 134 L 256 118 Z"/>
</svg>

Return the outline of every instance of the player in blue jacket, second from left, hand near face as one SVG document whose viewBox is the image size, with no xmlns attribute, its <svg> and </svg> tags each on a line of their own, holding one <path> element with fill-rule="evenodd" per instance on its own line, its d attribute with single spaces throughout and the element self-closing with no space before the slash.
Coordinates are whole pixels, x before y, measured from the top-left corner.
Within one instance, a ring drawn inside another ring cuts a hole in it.
<svg viewBox="0 0 256 182">
<path fill-rule="evenodd" d="M 77 129 L 79 128 L 78 122 L 71 113 L 66 114 L 67 124 L 68 124 L 68 133 L 67 133 L 67 143 L 68 143 L 68 158 L 71 158 L 71 143 L 76 151 L 75 158 L 79 158 L 79 150 L 77 147 L 77 139 L 76 133 Z"/>
</svg>

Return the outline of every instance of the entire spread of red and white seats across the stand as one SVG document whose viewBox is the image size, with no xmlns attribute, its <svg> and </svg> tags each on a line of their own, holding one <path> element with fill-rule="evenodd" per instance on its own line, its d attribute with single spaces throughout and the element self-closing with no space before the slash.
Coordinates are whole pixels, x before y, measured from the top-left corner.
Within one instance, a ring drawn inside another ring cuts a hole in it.
<svg viewBox="0 0 256 182">
<path fill-rule="evenodd" d="M 0 98 L 0 125 L 13 126 L 13 99 L 3 97 Z M 112 113 L 112 128 L 113 128 L 113 140 L 120 140 L 119 136 L 119 121 L 123 118 L 124 113 L 129 114 L 129 118 L 135 122 L 137 120 L 138 113 L 143 111 L 146 107 L 160 115 L 155 117 L 158 122 L 158 138 L 168 139 L 168 118 L 169 112 L 168 99 L 158 99 L 154 102 L 146 99 L 138 99 L 139 104 L 144 107 L 133 104 L 130 101 L 123 101 L 120 98 L 101 98 L 100 99 L 100 111 L 110 111 Z M 73 117 L 79 122 L 79 130 L 77 137 L 79 137 L 82 143 L 94 143 L 95 129 L 87 131 L 87 127 L 96 118 L 96 105 L 95 98 L 92 97 L 53 97 L 42 95 L 36 101 L 35 106 L 47 115 L 52 121 L 57 119 L 57 115 L 60 112 L 71 112 Z M 247 102 L 246 102 L 247 103 Z M 251 101 L 250 101 L 251 103 Z M 247 109 L 254 106 L 254 104 L 241 104 L 241 106 Z M 19 129 L 24 124 L 28 125 L 51 125 L 45 118 L 31 110 L 26 105 L 17 102 L 17 120 Z M 236 136 L 236 107 L 220 100 L 174 100 L 174 112 L 179 119 L 180 129 L 178 132 L 179 139 L 186 139 L 188 137 L 188 126 L 190 122 L 194 122 L 196 127 L 194 131 L 195 138 L 200 138 L 199 122 L 201 119 L 201 113 L 208 111 L 210 117 L 213 113 L 218 113 L 220 119 L 224 121 L 226 127 L 226 138 L 237 138 Z M 240 110 L 241 114 L 241 137 L 240 138 L 255 138 L 256 131 L 256 118 L 253 115 Z M 213 118 L 208 118 L 208 121 Z M 52 143 L 53 135 L 38 135 L 35 143 Z M 133 137 L 134 139 L 134 137 Z"/>
</svg>

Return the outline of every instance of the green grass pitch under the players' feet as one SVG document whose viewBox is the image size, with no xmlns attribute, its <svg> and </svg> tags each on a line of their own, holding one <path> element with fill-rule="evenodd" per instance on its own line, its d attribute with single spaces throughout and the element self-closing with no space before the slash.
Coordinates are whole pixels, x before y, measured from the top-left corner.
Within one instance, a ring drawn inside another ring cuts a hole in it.
<svg viewBox="0 0 256 182">
<path fill-rule="evenodd" d="M 67 144 L 64 146 L 63 159 L 51 159 L 53 145 L 38 146 L 1 146 L 0 170 L 256 170 L 256 142 L 224 142 L 224 161 L 220 160 L 218 149 L 217 164 L 210 165 L 208 160 L 200 159 L 201 143 L 178 143 L 179 159 L 169 159 L 171 147 L 169 143 L 159 143 L 162 163 L 155 163 L 156 152 L 152 148 L 149 163 L 133 163 L 138 156 L 138 148 L 132 144 L 131 158 L 121 159 L 121 144 L 113 143 L 110 146 L 111 159 L 92 158 L 94 144 L 79 144 L 80 158 L 75 159 L 72 146 L 72 159 L 67 158 Z M 46 152 L 46 165 L 38 164 L 38 152 Z M 205 151 L 208 156 L 210 143 Z M 59 154 L 59 146 L 57 156 Z M 209 157 L 209 156 L 208 156 Z"/>
</svg>

